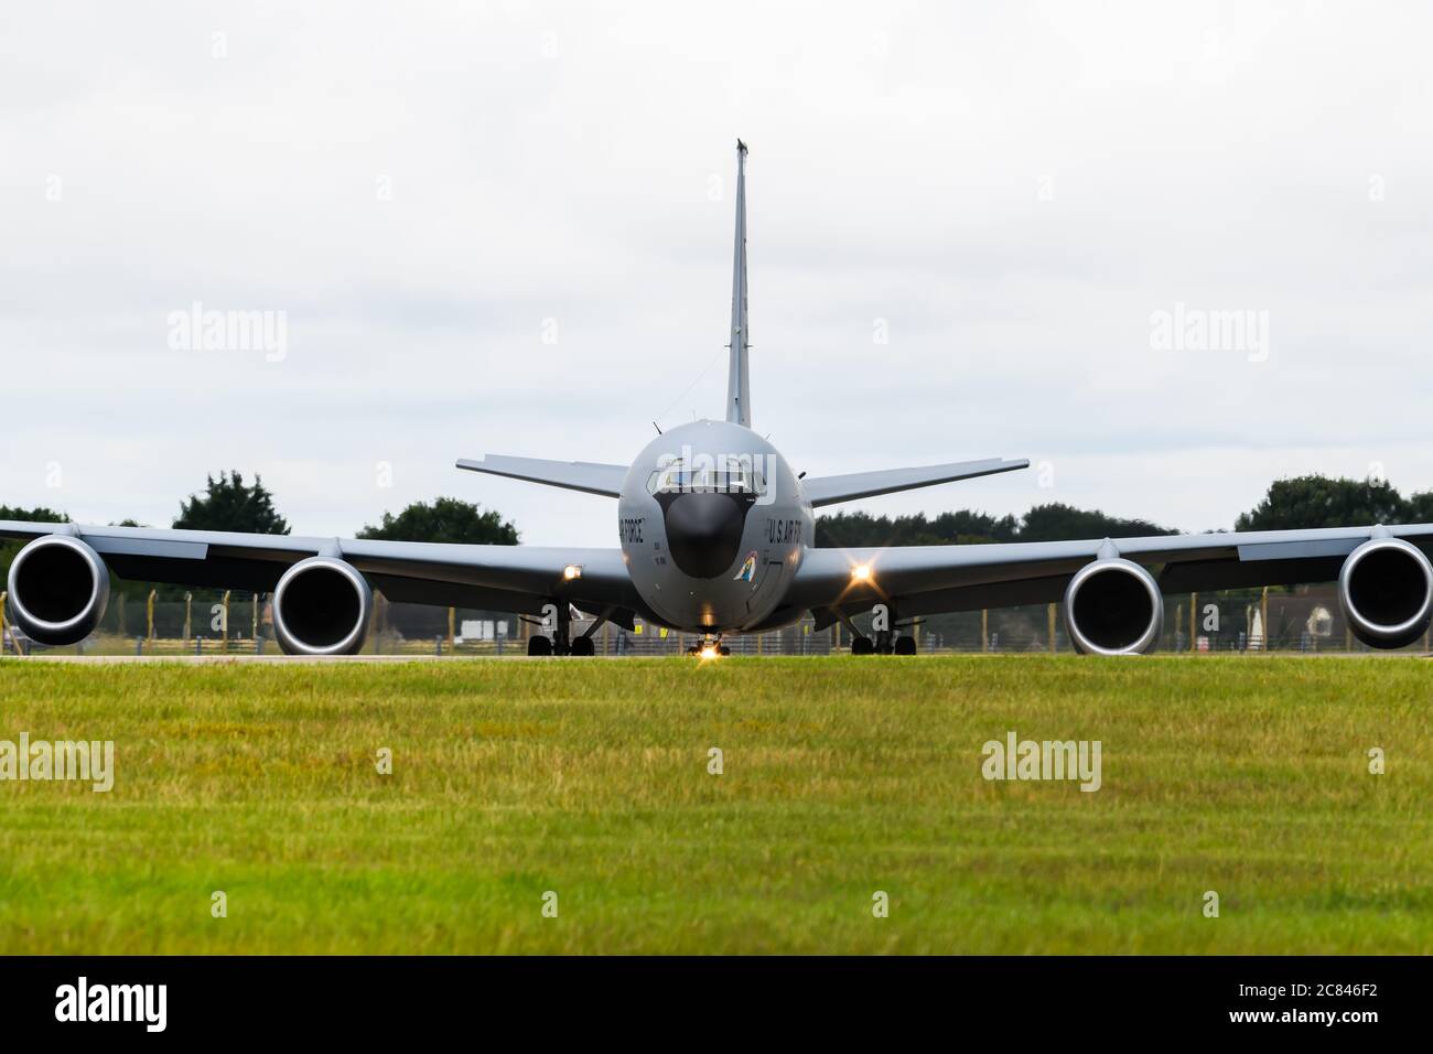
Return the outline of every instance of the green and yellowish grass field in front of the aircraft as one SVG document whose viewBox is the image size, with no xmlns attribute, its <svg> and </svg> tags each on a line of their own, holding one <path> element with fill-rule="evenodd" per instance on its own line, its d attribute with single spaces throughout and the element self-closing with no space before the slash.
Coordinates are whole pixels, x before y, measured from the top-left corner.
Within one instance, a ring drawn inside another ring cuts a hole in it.
<svg viewBox="0 0 1433 1054">
<path fill-rule="evenodd" d="M 113 740 L 116 776 L 0 782 L 0 952 L 1430 952 L 1430 678 L 6 660 L 0 740 Z M 1101 740 L 1102 789 L 984 780 L 1010 730 Z"/>
</svg>

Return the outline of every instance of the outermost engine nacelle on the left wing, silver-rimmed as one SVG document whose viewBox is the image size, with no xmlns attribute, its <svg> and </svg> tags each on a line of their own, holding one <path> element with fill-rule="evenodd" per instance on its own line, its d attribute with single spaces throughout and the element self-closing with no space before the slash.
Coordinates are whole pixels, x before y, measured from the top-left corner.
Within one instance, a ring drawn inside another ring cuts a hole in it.
<svg viewBox="0 0 1433 1054">
<path fill-rule="evenodd" d="M 109 568 L 72 535 L 36 538 L 10 564 L 10 617 L 40 644 L 77 644 L 109 605 Z"/>
</svg>

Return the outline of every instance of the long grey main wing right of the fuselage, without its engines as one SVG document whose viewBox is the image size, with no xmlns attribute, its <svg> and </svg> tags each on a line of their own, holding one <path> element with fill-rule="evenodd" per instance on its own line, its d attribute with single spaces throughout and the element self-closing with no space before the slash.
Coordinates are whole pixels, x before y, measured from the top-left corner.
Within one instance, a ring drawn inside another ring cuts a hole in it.
<svg viewBox="0 0 1433 1054">
<path fill-rule="evenodd" d="M 1338 576 L 1344 558 L 1376 529 L 811 549 L 797 569 L 788 602 L 791 608 L 815 612 L 818 624 L 834 621 L 837 612 L 868 611 L 878 602 L 894 602 L 903 618 L 1048 604 L 1062 599 L 1070 576 L 1106 545 L 1151 571 L 1165 594 L 1327 582 Z M 1386 531 L 1424 554 L 1433 552 L 1433 525 Z M 853 574 L 858 566 L 870 568 L 867 579 Z"/>
</svg>

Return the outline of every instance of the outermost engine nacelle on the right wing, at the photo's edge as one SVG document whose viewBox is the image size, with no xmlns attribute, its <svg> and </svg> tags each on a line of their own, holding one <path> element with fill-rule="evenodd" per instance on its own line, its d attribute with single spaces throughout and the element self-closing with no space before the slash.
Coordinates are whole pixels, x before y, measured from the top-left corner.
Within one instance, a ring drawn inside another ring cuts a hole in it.
<svg viewBox="0 0 1433 1054">
<path fill-rule="evenodd" d="M 1369 647 L 1413 644 L 1433 615 L 1433 566 L 1400 538 L 1373 538 L 1344 561 L 1338 607 L 1353 635 Z"/>
</svg>

